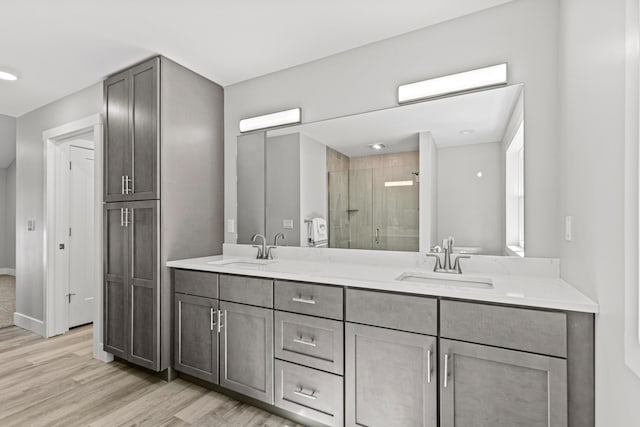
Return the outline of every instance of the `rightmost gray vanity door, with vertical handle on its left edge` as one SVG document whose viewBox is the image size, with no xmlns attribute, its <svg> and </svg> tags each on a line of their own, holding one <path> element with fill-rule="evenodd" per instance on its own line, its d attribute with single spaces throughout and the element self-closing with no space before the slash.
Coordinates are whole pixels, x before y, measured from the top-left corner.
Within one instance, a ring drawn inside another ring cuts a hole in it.
<svg viewBox="0 0 640 427">
<path fill-rule="evenodd" d="M 440 367 L 442 427 L 567 426 L 564 359 L 441 339 Z"/>
</svg>

